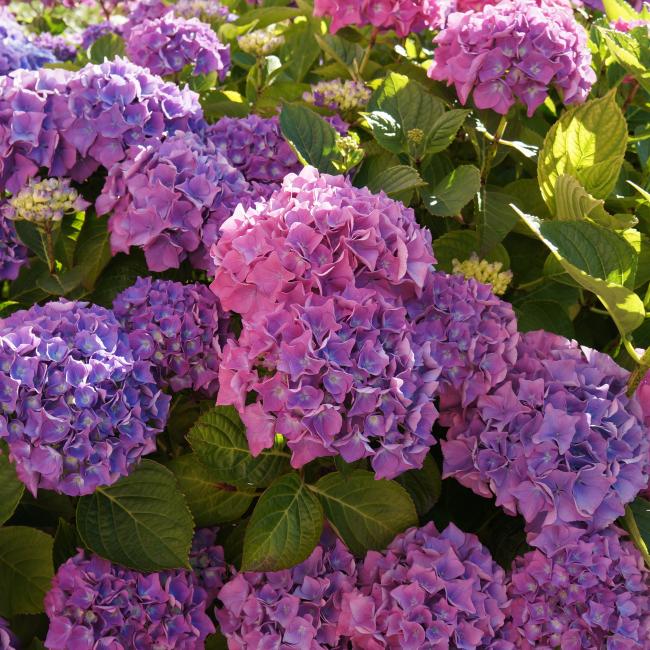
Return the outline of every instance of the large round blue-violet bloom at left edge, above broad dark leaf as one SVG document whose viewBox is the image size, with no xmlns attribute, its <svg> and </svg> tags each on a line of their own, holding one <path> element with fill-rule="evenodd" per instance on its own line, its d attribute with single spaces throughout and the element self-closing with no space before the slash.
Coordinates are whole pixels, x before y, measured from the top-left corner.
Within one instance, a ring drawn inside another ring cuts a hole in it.
<svg viewBox="0 0 650 650">
<path fill-rule="evenodd" d="M 33 494 L 126 476 L 154 451 L 169 399 L 103 307 L 62 299 L 0 320 L 0 437 Z"/>
</svg>

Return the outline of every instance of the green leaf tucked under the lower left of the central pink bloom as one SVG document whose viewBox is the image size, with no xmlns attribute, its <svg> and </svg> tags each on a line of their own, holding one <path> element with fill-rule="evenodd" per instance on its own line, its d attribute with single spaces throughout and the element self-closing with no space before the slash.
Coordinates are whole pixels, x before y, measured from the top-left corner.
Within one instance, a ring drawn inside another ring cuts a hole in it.
<svg viewBox="0 0 650 650">
<path fill-rule="evenodd" d="M 253 458 L 244 424 L 231 406 L 217 406 L 202 415 L 187 440 L 214 480 L 245 487 L 266 487 L 290 471 L 289 454 L 279 446 Z"/>
</svg>

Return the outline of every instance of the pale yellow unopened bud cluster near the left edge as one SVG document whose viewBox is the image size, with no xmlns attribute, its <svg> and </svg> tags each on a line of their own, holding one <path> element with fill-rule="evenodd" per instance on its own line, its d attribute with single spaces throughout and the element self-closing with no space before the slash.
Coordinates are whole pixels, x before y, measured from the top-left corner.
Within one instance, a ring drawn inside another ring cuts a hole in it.
<svg viewBox="0 0 650 650">
<path fill-rule="evenodd" d="M 12 221 L 47 224 L 61 221 L 66 214 L 81 212 L 88 207 L 67 178 L 31 178 L 14 194 L 3 208 L 4 216 Z"/>
</svg>

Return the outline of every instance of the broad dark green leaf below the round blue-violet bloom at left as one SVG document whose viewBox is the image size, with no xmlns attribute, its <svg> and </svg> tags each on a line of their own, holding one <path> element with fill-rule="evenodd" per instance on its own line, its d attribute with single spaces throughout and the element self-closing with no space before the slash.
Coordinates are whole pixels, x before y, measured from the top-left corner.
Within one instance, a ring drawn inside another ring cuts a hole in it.
<svg viewBox="0 0 650 650">
<path fill-rule="evenodd" d="M 192 515 L 174 475 L 143 460 L 77 504 L 77 529 L 97 555 L 139 571 L 189 567 Z"/>
</svg>

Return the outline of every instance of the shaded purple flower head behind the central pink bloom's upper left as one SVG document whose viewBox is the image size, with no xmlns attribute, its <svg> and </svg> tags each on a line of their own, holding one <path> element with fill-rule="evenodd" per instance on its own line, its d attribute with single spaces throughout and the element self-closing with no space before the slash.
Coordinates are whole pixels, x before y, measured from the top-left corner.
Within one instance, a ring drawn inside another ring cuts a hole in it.
<svg viewBox="0 0 650 650">
<path fill-rule="evenodd" d="M 256 198 L 268 198 L 287 174 L 302 169 L 277 117 L 222 117 L 208 127 L 206 136 L 244 175 Z"/>
</svg>

